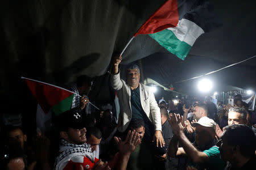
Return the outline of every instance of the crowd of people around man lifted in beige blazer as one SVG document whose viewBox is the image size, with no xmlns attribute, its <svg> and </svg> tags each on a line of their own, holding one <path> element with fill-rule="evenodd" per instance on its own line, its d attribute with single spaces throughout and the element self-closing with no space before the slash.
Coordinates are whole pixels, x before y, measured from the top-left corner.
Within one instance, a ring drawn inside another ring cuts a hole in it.
<svg viewBox="0 0 256 170">
<path fill-rule="evenodd" d="M 79 76 L 71 90 L 81 97 L 73 97 L 68 111 L 53 114 L 49 133 L 1 129 L 1 169 L 255 169 L 256 125 L 241 95 L 234 106 L 216 106 L 211 97 L 181 100 L 177 107 L 163 98 L 157 103 L 140 83 L 137 65 L 127 67 L 126 80 L 120 78 L 121 61 L 114 59 L 110 75 L 118 122 L 111 109 L 92 112 L 92 78 Z"/>
</svg>

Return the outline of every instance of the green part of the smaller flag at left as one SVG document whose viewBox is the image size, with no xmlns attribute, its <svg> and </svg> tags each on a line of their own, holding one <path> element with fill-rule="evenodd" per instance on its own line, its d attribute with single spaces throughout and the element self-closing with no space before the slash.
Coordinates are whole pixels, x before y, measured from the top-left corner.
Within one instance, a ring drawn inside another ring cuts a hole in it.
<svg viewBox="0 0 256 170">
<path fill-rule="evenodd" d="M 60 101 L 60 103 L 56 104 L 51 108 L 51 110 L 56 114 L 56 116 L 59 116 L 59 114 L 71 109 L 74 95 L 75 94 L 67 97 L 66 99 Z"/>
</svg>

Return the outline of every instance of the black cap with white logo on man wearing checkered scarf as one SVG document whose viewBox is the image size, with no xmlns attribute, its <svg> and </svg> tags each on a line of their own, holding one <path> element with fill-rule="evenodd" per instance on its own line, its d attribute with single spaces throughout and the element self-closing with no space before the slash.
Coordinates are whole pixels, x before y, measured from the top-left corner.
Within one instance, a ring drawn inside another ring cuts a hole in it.
<svg viewBox="0 0 256 170">
<path fill-rule="evenodd" d="M 77 112 L 77 109 L 71 109 L 61 113 L 60 116 L 57 117 L 57 126 L 59 126 L 60 129 L 82 129 L 85 128 L 85 121 L 82 115 Z"/>
</svg>

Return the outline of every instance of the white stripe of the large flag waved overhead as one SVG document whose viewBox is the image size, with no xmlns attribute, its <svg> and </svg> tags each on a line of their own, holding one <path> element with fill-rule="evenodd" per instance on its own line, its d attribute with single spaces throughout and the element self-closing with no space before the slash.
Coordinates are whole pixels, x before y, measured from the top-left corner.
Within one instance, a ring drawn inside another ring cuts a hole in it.
<svg viewBox="0 0 256 170">
<path fill-rule="evenodd" d="M 177 27 L 167 29 L 172 31 L 177 39 L 186 42 L 190 46 L 192 46 L 196 39 L 204 33 L 202 28 L 187 19 L 181 19 L 177 24 Z"/>
</svg>

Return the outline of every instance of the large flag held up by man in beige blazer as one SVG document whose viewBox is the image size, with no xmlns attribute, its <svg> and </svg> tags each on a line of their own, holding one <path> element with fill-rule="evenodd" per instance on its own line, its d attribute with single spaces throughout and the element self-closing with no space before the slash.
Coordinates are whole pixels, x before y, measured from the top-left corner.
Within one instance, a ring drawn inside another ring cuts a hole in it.
<svg viewBox="0 0 256 170">
<path fill-rule="evenodd" d="M 139 29 L 180 59 L 185 59 L 196 39 L 221 24 L 205 0 L 168 0 Z"/>
</svg>

